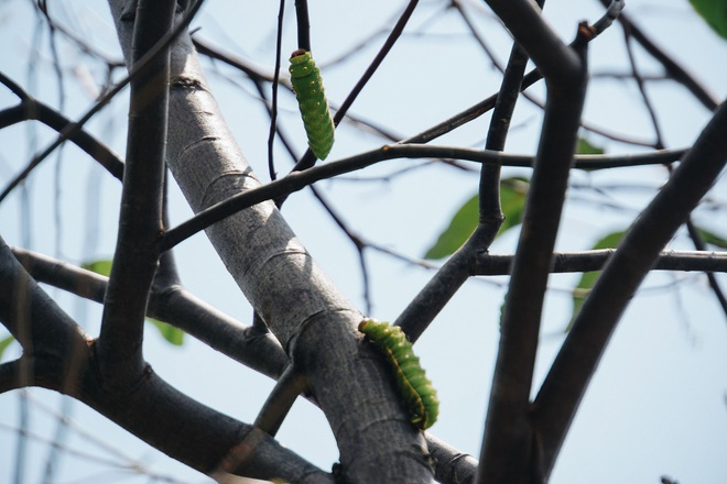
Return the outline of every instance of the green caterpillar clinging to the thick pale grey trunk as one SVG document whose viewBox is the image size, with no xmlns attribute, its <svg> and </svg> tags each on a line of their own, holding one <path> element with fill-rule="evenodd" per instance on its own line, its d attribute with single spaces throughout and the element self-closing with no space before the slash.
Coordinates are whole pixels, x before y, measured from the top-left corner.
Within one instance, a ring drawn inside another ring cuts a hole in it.
<svg viewBox="0 0 727 484">
<path fill-rule="evenodd" d="M 422 430 L 432 427 L 440 413 L 440 400 L 406 334 L 398 326 L 375 319 L 362 320 L 358 330 L 376 344 L 393 366 L 397 386 L 412 424 Z"/>
</svg>

